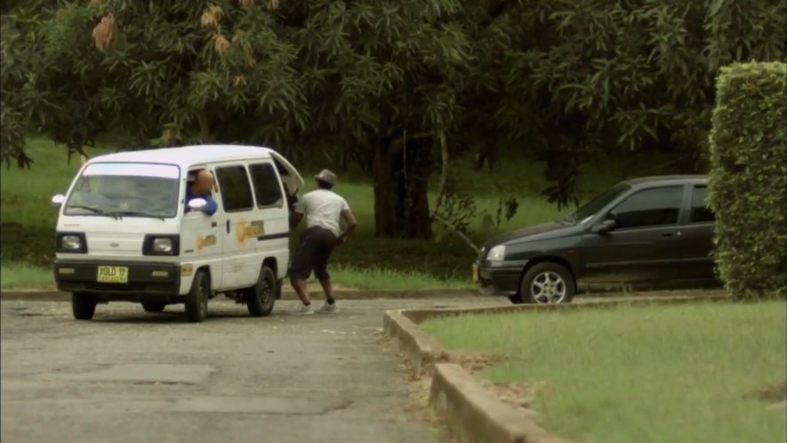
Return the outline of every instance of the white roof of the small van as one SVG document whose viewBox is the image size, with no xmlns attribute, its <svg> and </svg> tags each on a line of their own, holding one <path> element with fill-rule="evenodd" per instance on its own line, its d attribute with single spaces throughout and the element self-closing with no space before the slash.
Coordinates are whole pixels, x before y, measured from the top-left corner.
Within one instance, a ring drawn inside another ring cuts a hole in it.
<svg viewBox="0 0 787 443">
<path fill-rule="evenodd" d="M 240 160 L 249 157 L 269 158 L 273 149 L 246 145 L 191 145 L 179 148 L 145 149 L 117 152 L 93 157 L 88 163 L 141 162 L 179 165 L 188 168 L 217 161 Z"/>
</svg>

